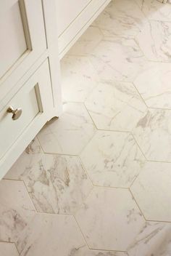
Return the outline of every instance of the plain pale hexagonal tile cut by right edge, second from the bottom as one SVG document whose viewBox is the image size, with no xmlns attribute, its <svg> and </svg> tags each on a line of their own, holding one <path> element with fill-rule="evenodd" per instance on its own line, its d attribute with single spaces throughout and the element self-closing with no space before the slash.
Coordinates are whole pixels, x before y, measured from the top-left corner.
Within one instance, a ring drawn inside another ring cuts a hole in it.
<svg viewBox="0 0 171 256">
<path fill-rule="evenodd" d="M 171 221 L 171 163 L 147 162 L 131 191 L 147 220 Z"/>
</svg>

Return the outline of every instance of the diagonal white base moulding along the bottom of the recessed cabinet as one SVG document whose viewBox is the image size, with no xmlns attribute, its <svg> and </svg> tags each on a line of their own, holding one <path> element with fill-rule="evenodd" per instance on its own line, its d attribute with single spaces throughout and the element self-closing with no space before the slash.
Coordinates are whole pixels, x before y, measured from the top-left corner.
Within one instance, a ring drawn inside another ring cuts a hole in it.
<svg viewBox="0 0 171 256">
<path fill-rule="evenodd" d="M 56 0 L 57 4 L 58 1 Z M 111 0 L 91 0 L 86 8 L 80 10 L 80 13 L 75 20 L 63 31 L 59 36 L 59 57 L 60 59 L 72 47 L 75 41 L 86 31 L 89 25 L 96 19 L 96 17 L 104 10 Z M 68 9 L 70 9 L 70 2 L 68 2 Z M 58 20 L 58 23 L 59 20 Z"/>
</svg>

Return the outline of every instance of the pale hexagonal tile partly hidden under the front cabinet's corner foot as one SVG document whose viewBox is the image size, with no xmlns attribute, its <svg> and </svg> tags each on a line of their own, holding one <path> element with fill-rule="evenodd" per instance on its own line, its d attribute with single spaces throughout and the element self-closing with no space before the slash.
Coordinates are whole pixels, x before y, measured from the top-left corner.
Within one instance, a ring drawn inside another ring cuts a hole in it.
<svg viewBox="0 0 171 256">
<path fill-rule="evenodd" d="M 46 153 L 78 155 L 96 129 L 82 103 L 65 103 L 59 119 L 52 119 L 38 133 Z"/>
</svg>

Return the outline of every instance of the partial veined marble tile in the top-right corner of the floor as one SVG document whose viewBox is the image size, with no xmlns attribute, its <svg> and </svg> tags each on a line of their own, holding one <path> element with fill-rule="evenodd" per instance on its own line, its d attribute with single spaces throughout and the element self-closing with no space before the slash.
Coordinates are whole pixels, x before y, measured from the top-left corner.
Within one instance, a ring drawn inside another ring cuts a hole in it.
<svg viewBox="0 0 171 256">
<path fill-rule="evenodd" d="M 149 20 L 171 21 L 170 0 L 162 4 L 157 0 L 135 0 Z"/>
</svg>

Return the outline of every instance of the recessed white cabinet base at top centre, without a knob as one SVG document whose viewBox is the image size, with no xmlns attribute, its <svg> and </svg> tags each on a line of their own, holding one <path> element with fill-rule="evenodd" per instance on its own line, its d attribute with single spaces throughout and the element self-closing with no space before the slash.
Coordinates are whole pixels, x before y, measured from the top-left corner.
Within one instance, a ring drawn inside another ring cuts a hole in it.
<svg viewBox="0 0 171 256">
<path fill-rule="evenodd" d="M 111 0 L 56 0 L 59 57 L 72 47 Z"/>
</svg>

